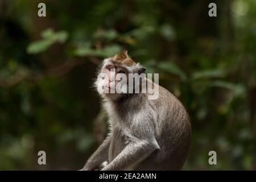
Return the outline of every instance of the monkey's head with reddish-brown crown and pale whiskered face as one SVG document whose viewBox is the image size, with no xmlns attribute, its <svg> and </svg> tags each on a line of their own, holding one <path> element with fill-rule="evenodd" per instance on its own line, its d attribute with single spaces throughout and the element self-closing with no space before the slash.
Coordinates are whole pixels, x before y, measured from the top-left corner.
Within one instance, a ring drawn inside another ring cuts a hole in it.
<svg viewBox="0 0 256 182">
<path fill-rule="evenodd" d="M 131 79 L 134 80 L 136 76 L 144 78 L 145 74 L 143 73 L 145 71 L 146 68 L 142 67 L 139 63 L 135 63 L 127 55 L 127 51 L 121 51 L 117 55 L 102 61 L 97 80 L 94 84 L 102 97 L 118 100 L 118 98 L 126 96 L 128 93 L 130 94 L 129 81 Z M 131 76 L 134 77 L 131 78 Z"/>
</svg>

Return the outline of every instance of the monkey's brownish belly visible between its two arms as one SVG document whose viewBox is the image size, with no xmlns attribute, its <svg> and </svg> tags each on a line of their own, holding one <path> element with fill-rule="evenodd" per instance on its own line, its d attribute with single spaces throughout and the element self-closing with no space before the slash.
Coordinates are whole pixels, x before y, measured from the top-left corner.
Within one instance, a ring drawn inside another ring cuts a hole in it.
<svg viewBox="0 0 256 182">
<path fill-rule="evenodd" d="M 127 137 L 119 127 L 115 127 L 112 134 L 112 142 L 109 147 L 109 162 L 122 152 L 127 145 Z"/>
</svg>

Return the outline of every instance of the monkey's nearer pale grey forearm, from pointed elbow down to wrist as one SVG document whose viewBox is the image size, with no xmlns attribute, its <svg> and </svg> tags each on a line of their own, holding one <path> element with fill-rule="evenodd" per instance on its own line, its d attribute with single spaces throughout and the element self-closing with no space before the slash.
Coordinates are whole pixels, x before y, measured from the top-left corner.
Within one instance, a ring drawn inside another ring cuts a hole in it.
<svg viewBox="0 0 256 182">
<path fill-rule="evenodd" d="M 159 149 L 156 140 L 140 140 L 130 143 L 102 171 L 127 170 L 141 162 L 156 149 Z"/>
</svg>

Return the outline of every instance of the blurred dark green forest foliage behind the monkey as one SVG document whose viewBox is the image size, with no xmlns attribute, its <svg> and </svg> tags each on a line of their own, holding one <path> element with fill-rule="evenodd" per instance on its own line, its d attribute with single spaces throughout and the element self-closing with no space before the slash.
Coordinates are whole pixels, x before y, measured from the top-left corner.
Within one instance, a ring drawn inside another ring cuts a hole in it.
<svg viewBox="0 0 256 182">
<path fill-rule="evenodd" d="M 0 0 L 0 169 L 82 168 L 108 129 L 93 78 L 121 49 L 191 115 L 183 169 L 256 169 L 255 0 Z"/>
</svg>

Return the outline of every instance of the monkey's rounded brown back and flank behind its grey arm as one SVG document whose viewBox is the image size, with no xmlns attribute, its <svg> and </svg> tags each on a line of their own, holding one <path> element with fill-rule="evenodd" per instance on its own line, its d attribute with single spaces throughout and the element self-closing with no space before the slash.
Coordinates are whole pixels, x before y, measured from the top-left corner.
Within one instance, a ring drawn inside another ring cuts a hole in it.
<svg viewBox="0 0 256 182">
<path fill-rule="evenodd" d="M 180 170 L 191 146 L 189 115 L 177 98 L 159 86 L 159 98 L 148 100 L 159 113 L 155 119 L 155 138 L 160 150 L 138 163 L 134 170 Z"/>
</svg>

